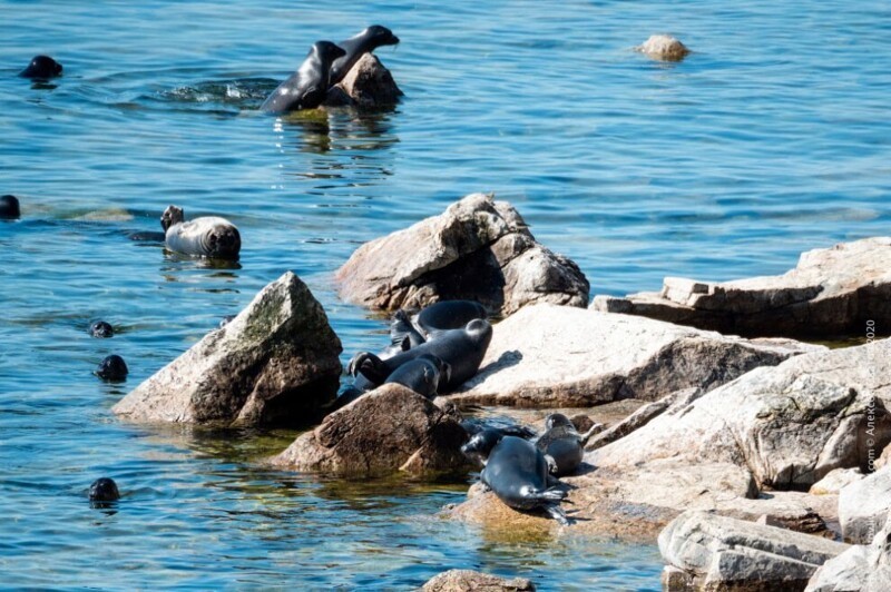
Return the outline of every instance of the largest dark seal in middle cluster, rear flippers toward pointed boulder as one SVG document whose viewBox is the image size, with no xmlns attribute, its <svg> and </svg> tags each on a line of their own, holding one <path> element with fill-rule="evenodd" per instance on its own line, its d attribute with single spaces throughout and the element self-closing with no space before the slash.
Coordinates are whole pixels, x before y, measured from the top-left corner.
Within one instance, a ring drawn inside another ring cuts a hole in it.
<svg viewBox="0 0 891 592">
<path fill-rule="evenodd" d="M 369 352 L 360 352 L 353 356 L 346 369 L 353 376 L 362 374 L 373 386 L 379 386 L 407 362 L 432 354 L 451 366 L 448 379 L 444 384 L 440 382 L 439 393 L 442 394 L 477 374 L 491 341 L 492 326 L 488 320 L 478 318 L 468 323 L 464 328 L 440 332 L 435 339 L 388 359 L 381 359 Z"/>
</svg>

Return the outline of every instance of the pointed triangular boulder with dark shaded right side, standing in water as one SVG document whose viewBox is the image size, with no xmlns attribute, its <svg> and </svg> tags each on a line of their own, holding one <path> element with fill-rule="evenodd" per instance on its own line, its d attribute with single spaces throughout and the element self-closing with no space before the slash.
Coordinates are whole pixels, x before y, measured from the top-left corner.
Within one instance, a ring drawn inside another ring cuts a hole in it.
<svg viewBox="0 0 891 592">
<path fill-rule="evenodd" d="M 322 306 L 288 272 L 112 411 L 146 423 L 306 423 L 334 399 L 342 349 Z"/>
</svg>

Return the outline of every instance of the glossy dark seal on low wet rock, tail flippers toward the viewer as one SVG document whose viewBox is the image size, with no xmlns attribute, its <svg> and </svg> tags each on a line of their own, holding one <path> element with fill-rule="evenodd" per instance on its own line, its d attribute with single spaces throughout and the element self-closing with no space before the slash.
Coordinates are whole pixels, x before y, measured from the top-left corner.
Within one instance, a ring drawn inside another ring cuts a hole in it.
<svg viewBox="0 0 891 592">
<path fill-rule="evenodd" d="M 501 502 L 515 510 L 544 510 L 560 524 L 568 525 L 558 505 L 566 492 L 548 473 L 545 455 L 535 444 L 497 430 L 483 430 L 461 446 L 466 456 L 483 458 L 480 481 Z"/>
</svg>

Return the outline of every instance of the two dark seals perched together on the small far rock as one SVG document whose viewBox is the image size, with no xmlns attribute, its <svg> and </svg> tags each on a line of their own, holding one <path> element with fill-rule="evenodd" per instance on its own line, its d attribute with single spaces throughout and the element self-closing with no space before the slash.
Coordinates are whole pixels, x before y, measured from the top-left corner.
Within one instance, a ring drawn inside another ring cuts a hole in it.
<svg viewBox="0 0 891 592">
<path fill-rule="evenodd" d="M 260 109 L 271 114 L 315 109 L 325 100 L 329 89 L 343 80 L 359 58 L 381 46 L 396 43 L 399 38 L 380 24 L 369 27 L 337 45 L 316 41 L 297 71 L 278 85 Z"/>
</svg>

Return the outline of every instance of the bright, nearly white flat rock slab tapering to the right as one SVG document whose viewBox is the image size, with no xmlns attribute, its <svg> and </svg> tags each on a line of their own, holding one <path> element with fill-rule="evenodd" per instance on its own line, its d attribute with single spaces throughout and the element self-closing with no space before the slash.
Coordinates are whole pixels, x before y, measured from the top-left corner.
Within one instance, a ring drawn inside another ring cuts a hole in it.
<svg viewBox="0 0 891 592">
<path fill-rule="evenodd" d="M 657 401 L 683 388 L 705 392 L 757 366 L 819 349 L 539 304 L 495 326 L 480 372 L 450 398 L 522 407 Z"/>
</svg>

